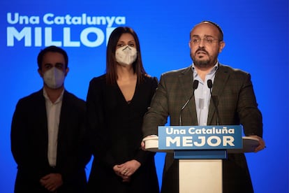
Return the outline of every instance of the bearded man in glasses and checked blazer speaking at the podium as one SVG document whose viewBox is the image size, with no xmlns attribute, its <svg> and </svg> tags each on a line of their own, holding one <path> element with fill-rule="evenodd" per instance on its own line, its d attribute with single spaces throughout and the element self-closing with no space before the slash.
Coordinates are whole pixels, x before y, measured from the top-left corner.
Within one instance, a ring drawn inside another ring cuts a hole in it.
<svg viewBox="0 0 289 193">
<path fill-rule="evenodd" d="M 218 24 L 203 21 L 191 30 L 189 47 L 193 64 L 163 73 L 151 106 L 144 115 L 144 137 L 157 135 L 158 126 L 239 125 L 244 134 L 262 140 L 262 114 L 255 99 L 251 76 L 218 62 L 225 47 Z M 142 148 L 144 143 L 142 142 Z M 161 192 L 179 192 L 179 162 L 167 153 Z M 223 160 L 223 192 L 253 192 L 244 153 L 228 154 Z"/>
</svg>

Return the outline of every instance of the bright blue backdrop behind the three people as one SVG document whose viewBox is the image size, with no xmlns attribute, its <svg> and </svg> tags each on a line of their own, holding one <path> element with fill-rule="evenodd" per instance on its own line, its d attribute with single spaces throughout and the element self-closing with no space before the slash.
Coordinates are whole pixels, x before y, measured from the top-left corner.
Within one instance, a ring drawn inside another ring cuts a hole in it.
<svg viewBox="0 0 289 193">
<path fill-rule="evenodd" d="M 135 29 L 144 67 L 159 78 L 191 64 L 189 31 L 202 20 L 224 31 L 220 62 L 252 76 L 267 143 L 262 152 L 246 154 L 255 192 L 289 191 L 288 0 L 2 0 L 0 10 L 0 192 L 13 192 L 10 123 L 18 99 L 42 87 L 36 64 L 41 48 L 54 44 L 68 52 L 66 89 L 85 99 L 89 80 L 105 71 L 106 41 L 114 27 Z M 156 155 L 160 183 L 163 157 Z"/>
</svg>

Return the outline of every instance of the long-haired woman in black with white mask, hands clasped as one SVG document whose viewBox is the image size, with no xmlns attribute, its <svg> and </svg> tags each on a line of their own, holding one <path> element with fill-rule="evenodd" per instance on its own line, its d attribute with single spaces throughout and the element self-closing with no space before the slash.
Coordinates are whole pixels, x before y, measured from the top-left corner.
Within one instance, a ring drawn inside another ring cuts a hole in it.
<svg viewBox="0 0 289 193">
<path fill-rule="evenodd" d="M 89 192 L 159 192 L 154 153 L 140 149 L 142 117 L 158 80 L 144 70 L 133 29 L 112 31 L 106 60 L 106 73 L 90 81 L 87 93 Z"/>
</svg>

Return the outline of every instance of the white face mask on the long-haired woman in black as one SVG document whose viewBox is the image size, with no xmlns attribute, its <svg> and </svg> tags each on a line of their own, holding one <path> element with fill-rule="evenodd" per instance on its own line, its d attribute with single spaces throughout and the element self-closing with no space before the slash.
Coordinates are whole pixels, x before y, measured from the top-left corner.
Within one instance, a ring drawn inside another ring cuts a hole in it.
<svg viewBox="0 0 289 193">
<path fill-rule="evenodd" d="M 115 58 L 117 59 L 117 62 L 122 65 L 133 64 L 137 56 L 137 50 L 129 45 L 118 48 L 115 51 Z"/>
</svg>

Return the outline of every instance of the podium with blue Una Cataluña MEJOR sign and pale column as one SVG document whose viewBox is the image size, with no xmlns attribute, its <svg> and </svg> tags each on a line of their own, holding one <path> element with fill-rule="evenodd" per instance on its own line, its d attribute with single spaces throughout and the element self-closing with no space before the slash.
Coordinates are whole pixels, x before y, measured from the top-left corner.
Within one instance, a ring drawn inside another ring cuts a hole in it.
<svg viewBox="0 0 289 193">
<path fill-rule="evenodd" d="M 161 126 L 158 136 L 143 141 L 147 150 L 179 159 L 179 193 L 223 192 L 223 159 L 228 153 L 253 152 L 259 144 L 242 136 L 239 125 Z"/>
</svg>

